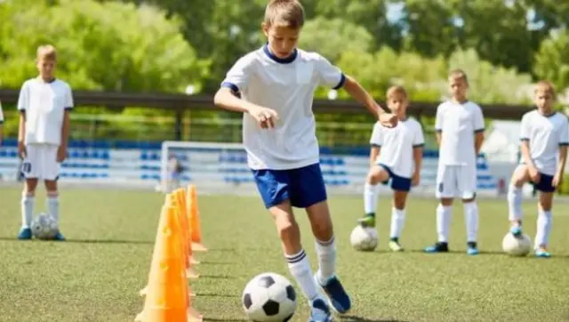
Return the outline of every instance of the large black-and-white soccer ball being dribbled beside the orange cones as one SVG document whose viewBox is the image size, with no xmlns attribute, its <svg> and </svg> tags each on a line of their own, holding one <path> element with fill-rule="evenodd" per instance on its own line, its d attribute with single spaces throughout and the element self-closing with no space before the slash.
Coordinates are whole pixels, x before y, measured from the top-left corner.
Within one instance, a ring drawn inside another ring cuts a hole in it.
<svg viewBox="0 0 569 322">
<path fill-rule="evenodd" d="M 296 292 L 288 279 L 275 273 L 262 273 L 244 288 L 243 309 L 258 322 L 286 322 L 296 310 Z"/>
</svg>

